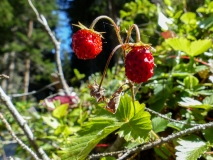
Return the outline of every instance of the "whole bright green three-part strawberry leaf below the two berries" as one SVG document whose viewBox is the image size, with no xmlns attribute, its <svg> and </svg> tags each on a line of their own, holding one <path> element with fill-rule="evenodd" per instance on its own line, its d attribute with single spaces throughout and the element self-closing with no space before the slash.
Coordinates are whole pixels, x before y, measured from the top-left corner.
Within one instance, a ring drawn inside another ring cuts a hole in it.
<svg viewBox="0 0 213 160">
<path fill-rule="evenodd" d="M 102 139 L 116 130 L 126 141 L 143 143 L 148 140 L 151 129 L 150 114 L 144 111 L 144 105 L 136 101 L 134 109 L 132 99 L 124 95 L 116 114 L 99 108 L 94 118 L 90 118 L 76 136 L 68 139 L 64 151 L 60 153 L 65 154 L 64 159 L 85 159 Z"/>
</svg>

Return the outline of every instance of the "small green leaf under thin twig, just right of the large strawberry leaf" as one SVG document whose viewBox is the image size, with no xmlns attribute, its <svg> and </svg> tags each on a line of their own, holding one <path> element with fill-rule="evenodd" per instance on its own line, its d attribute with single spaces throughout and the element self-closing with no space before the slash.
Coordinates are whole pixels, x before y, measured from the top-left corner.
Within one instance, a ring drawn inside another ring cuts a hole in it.
<svg viewBox="0 0 213 160">
<path fill-rule="evenodd" d="M 171 114 L 167 114 L 166 116 L 171 117 Z M 162 132 L 167 128 L 168 120 L 163 119 L 161 117 L 154 117 L 152 119 L 152 130 L 155 133 Z"/>
</svg>

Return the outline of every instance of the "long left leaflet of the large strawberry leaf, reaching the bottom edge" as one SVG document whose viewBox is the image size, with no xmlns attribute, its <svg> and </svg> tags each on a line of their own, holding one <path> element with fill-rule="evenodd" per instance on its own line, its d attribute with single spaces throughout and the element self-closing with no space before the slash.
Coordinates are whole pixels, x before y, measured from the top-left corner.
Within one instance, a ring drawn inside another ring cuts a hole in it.
<svg viewBox="0 0 213 160">
<path fill-rule="evenodd" d="M 97 122 L 100 122 L 99 125 L 96 125 Z M 121 125 L 121 123 L 112 124 L 112 121 L 108 119 L 92 119 L 83 127 L 83 131 L 68 139 L 67 145 L 60 151 L 62 158 L 84 160 L 100 140 L 120 128 Z"/>
</svg>

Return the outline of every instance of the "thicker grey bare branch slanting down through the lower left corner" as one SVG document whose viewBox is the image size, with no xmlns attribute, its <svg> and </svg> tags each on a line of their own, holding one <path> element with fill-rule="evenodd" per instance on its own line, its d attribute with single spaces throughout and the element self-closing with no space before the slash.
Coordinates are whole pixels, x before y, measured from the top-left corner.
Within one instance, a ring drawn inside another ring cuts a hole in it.
<svg viewBox="0 0 213 160">
<path fill-rule="evenodd" d="M 49 160 L 45 152 L 42 148 L 39 148 L 38 145 L 35 142 L 33 133 L 28 126 L 27 122 L 23 119 L 23 117 L 20 115 L 20 113 L 16 110 L 16 107 L 11 102 L 10 98 L 4 93 L 2 88 L 0 87 L 0 100 L 3 102 L 3 104 L 8 108 L 10 113 L 13 115 L 14 119 L 18 122 L 18 125 L 21 127 L 21 129 L 24 131 L 24 134 L 27 136 L 31 146 L 34 148 L 36 154 L 39 156 L 39 158 L 42 158 L 44 160 Z"/>
</svg>

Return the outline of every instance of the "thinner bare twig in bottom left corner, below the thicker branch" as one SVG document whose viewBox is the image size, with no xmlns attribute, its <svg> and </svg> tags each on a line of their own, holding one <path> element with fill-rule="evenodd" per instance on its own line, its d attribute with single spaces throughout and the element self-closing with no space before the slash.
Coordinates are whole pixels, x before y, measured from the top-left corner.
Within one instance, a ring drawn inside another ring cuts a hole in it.
<svg viewBox="0 0 213 160">
<path fill-rule="evenodd" d="M 10 132 L 10 134 L 12 135 L 12 137 L 18 142 L 18 144 L 23 148 L 25 149 L 27 152 L 30 153 L 30 155 L 36 159 L 36 160 L 40 160 L 38 158 L 38 156 L 28 147 L 26 146 L 18 137 L 16 137 L 15 133 L 13 132 L 10 124 L 7 122 L 7 120 L 4 118 L 3 114 L 0 113 L 0 119 L 2 120 L 2 122 L 5 124 L 7 130 Z"/>
</svg>

